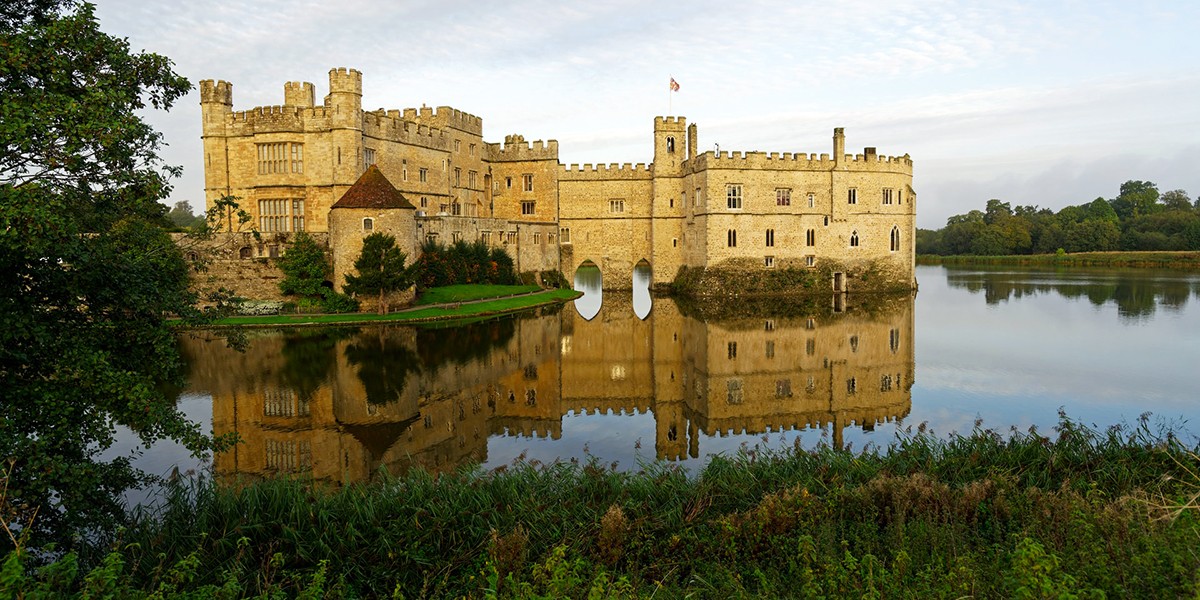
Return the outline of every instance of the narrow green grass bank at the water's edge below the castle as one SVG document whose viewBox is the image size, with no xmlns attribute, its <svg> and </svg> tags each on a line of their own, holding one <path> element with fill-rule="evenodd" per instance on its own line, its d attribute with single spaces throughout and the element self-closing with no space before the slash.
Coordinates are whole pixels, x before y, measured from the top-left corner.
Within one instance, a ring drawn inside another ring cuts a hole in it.
<svg viewBox="0 0 1200 600">
<path fill-rule="evenodd" d="M 470 288 L 505 288 L 502 290 L 502 295 L 504 295 L 504 298 L 492 298 L 493 295 L 497 295 L 494 294 L 496 289 Z M 359 325 L 463 319 L 472 317 L 488 317 L 506 312 L 523 311 L 535 306 L 565 302 L 582 295 L 582 293 L 575 292 L 574 289 L 547 289 L 544 292 L 536 292 L 540 289 L 536 286 L 451 286 L 450 288 L 433 288 L 428 292 L 440 292 L 443 289 L 450 289 L 450 292 L 436 295 L 436 298 L 442 299 L 437 304 L 420 302 L 418 306 L 388 314 L 355 312 L 342 314 L 272 314 L 260 317 L 228 317 L 215 320 L 211 326 Z M 524 295 L 511 295 L 514 293 Z M 445 300 L 446 298 L 461 298 L 461 300 Z"/>
</svg>

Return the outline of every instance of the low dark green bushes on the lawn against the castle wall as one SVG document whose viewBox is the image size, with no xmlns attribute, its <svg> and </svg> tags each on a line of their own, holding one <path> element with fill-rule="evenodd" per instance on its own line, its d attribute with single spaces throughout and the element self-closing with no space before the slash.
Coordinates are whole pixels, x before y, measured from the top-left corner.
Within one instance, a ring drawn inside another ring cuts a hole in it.
<svg viewBox="0 0 1200 600">
<path fill-rule="evenodd" d="M 463 283 L 517 283 L 512 257 L 503 248 L 490 248 L 481 240 L 458 240 L 449 247 L 427 240 L 416 262 L 416 284 L 421 289 Z"/>
</svg>

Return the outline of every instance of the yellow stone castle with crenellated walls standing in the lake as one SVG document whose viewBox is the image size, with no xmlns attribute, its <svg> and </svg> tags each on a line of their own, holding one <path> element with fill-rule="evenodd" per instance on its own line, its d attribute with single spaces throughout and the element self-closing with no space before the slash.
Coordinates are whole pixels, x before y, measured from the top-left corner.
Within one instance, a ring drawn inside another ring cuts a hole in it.
<svg viewBox="0 0 1200 600">
<path fill-rule="evenodd" d="M 480 118 L 450 107 L 364 110 L 355 70 L 331 70 L 320 104 L 313 84 L 289 82 L 282 106 L 234 112 L 232 84 L 209 79 L 200 106 L 206 205 L 238 197 L 277 239 L 328 233 L 338 287 L 372 232 L 412 259 L 432 239 L 499 245 L 521 271 L 568 278 L 592 263 L 606 288 L 629 288 L 638 264 L 655 284 L 702 268 L 816 269 L 834 292 L 916 287 L 912 160 L 848 155 L 841 128 L 832 155 L 700 152 L 695 124 L 658 116 L 652 164 L 581 167 L 559 163 L 556 140 L 487 143 Z"/>
</svg>

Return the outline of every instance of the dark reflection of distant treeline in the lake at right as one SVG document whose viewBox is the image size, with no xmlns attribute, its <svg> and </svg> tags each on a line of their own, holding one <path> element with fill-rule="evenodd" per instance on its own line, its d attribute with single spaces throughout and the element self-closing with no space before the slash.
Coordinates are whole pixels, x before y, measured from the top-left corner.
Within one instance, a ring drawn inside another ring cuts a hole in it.
<svg viewBox="0 0 1200 600">
<path fill-rule="evenodd" d="M 1162 307 L 1178 312 L 1188 298 L 1200 298 L 1200 283 L 1187 272 L 1145 269 L 1044 270 L 1036 268 L 946 268 L 952 288 L 982 293 L 989 305 L 1055 293 L 1086 299 L 1093 306 L 1112 302 L 1123 322 L 1151 317 Z"/>
</svg>

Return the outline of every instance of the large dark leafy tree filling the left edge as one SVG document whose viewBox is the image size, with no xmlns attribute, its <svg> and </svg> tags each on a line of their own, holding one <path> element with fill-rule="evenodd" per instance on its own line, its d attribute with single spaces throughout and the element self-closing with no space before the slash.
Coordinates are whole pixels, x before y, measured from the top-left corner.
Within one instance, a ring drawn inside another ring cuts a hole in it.
<svg viewBox="0 0 1200 600">
<path fill-rule="evenodd" d="M 0 458 L 22 545 L 89 542 L 152 478 L 102 460 L 114 425 L 150 444 L 215 448 L 164 383 L 181 383 L 164 318 L 197 318 L 188 265 L 160 227 L 179 173 L 139 116 L 187 80 L 100 30 L 94 7 L 0 8 Z M 36 511 L 36 518 L 34 514 Z M 12 523 L 13 521 L 8 521 Z M 13 540 L 2 538 L 2 545 Z"/>
</svg>

